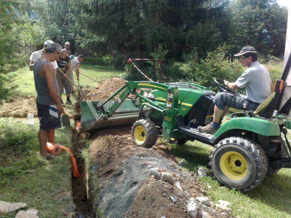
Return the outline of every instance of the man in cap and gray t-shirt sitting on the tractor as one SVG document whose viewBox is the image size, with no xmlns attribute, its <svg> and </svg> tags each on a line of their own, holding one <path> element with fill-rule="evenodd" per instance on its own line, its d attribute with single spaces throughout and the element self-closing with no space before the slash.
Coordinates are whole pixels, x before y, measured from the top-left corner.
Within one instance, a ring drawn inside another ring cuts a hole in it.
<svg viewBox="0 0 291 218">
<path fill-rule="evenodd" d="M 200 132 L 214 134 L 220 127 L 223 117 L 228 111 L 228 107 L 256 110 L 259 104 L 264 101 L 274 90 L 269 71 L 258 62 L 257 51 L 254 47 L 243 47 L 240 53 L 234 56 L 239 57 L 239 62 L 247 69 L 235 82 L 224 80 L 227 87 L 231 89 L 244 88 L 246 96 L 233 93 L 217 93 L 213 99 L 215 104 L 213 121 L 206 126 L 199 126 Z"/>
</svg>

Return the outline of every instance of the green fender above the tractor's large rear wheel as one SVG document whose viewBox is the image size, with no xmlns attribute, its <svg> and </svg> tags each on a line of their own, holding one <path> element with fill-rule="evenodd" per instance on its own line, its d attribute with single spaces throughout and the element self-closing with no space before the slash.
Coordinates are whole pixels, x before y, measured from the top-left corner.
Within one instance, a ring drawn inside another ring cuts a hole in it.
<svg viewBox="0 0 291 218">
<path fill-rule="evenodd" d="M 236 117 L 229 119 L 225 124 L 223 124 L 217 130 L 214 137 L 218 138 L 220 135 L 231 129 L 243 129 L 264 136 L 280 136 L 279 125 L 274 121 L 256 117 Z"/>
</svg>

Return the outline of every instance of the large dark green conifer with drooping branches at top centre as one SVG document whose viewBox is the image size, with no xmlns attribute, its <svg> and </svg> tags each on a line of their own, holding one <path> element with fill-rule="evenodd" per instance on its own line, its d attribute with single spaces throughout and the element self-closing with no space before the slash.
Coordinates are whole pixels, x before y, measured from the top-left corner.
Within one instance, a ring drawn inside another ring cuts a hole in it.
<svg viewBox="0 0 291 218">
<path fill-rule="evenodd" d="M 222 42 L 216 23 L 224 4 L 203 7 L 207 0 L 72 0 L 80 11 L 81 46 L 96 54 L 112 50 L 148 57 L 159 45 L 167 58 L 197 48 L 201 56 Z"/>
</svg>

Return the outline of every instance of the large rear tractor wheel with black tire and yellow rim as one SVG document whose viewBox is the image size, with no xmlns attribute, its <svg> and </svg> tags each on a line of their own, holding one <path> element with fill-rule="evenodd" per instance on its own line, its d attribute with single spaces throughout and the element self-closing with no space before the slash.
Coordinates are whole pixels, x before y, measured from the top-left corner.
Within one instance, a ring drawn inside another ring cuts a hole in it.
<svg viewBox="0 0 291 218">
<path fill-rule="evenodd" d="M 257 187 L 268 169 L 268 159 L 259 144 L 239 137 L 218 142 L 209 158 L 214 178 L 241 192 Z"/>
</svg>

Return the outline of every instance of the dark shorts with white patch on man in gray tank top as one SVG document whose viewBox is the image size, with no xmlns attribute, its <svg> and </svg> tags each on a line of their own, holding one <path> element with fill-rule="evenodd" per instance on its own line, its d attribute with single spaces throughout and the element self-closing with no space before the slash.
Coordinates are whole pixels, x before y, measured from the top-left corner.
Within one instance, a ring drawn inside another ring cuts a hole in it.
<svg viewBox="0 0 291 218">
<path fill-rule="evenodd" d="M 36 102 L 37 115 L 40 129 L 61 128 L 61 114 L 58 113 L 56 105 L 42 105 Z"/>
</svg>

